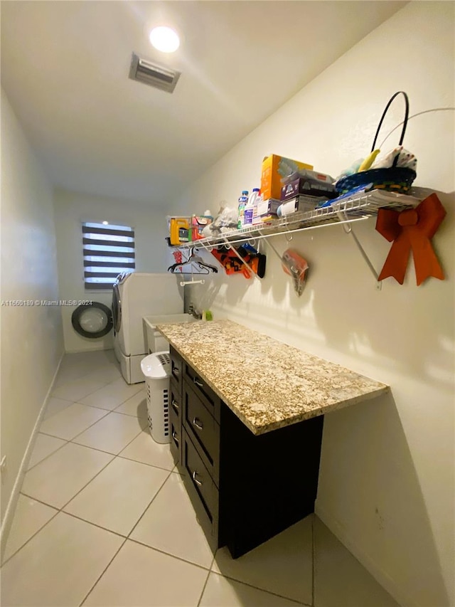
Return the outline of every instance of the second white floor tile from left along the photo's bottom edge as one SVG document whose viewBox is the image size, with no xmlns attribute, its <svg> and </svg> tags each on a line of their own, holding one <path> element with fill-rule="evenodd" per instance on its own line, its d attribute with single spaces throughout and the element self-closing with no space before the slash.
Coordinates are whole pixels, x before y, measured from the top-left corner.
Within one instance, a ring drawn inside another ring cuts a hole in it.
<svg viewBox="0 0 455 607">
<path fill-rule="evenodd" d="M 127 540 L 84 606 L 196 607 L 207 573 Z"/>
</svg>

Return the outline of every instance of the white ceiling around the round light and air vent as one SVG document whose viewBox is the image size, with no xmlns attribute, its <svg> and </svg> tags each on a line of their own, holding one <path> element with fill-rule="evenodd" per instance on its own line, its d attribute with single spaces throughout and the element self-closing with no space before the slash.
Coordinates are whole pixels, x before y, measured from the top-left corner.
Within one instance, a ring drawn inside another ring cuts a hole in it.
<svg viewBox="0 0 455 607">
<path fill-rule="evenodd" d="M 53 184 L 161 206 L 405 4 L 2 1 L 1 80 Z M 182 72 L 173 94 L 129 80 L 132 51 Z"/>
</svg>

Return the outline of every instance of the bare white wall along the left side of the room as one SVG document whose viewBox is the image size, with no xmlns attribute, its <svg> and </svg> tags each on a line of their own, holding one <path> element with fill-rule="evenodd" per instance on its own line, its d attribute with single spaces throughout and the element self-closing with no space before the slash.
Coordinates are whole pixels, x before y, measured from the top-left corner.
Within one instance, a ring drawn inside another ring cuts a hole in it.
<svg viewBox="0 0 455 607">
<path fill-rule="evenodd" d="M 52 196 L 52 187 L 2 90 L 3 302 L 58 297 Z M 2 305 L 1 457 L 6 455 L 6 470 L 1 475 L 2 523 L 7 506 L 8 512 L 14 510 L 14 483 L 62 355 L 58 308 Z M 19 481 L 16 488 L 18 485 Z"/>
</svg>

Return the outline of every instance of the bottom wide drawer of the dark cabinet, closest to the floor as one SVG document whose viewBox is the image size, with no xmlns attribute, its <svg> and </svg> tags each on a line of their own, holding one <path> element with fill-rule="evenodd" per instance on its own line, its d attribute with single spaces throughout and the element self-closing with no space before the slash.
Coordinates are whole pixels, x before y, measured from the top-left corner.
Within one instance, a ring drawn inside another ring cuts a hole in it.
<svg viewBox="0 0 455 607">
<path fill-rule="evenodd" d="M 183 482 L 210 547 L 218 548 L 218 490 L 185 428 L 182 429 Z"/>
</svg>

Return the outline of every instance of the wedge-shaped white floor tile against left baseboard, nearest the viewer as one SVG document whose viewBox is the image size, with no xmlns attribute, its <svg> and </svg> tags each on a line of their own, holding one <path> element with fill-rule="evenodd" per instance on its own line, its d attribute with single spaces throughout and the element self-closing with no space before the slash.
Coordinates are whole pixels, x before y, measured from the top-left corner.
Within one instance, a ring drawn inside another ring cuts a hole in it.
<svg viewBox="0 0 455 607">
<path fill-rule="evenodd" d="M 13 524 L 6 542 L 3 561 L 9 559 L 23 544 L 28 542 L 41 527 L 57 514 L 58 510 L 45 506 L 25 495 L 19 495 Z"/>
</svg>

